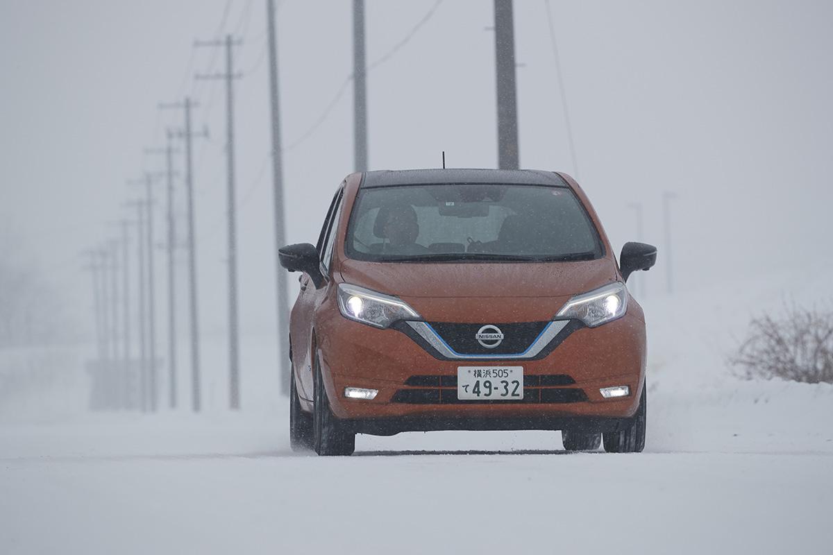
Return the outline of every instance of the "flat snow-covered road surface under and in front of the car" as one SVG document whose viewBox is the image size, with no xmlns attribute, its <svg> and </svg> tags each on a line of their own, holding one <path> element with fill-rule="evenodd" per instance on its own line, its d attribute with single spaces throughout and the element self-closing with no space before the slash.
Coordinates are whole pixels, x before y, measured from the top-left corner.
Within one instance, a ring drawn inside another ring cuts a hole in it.
<svg viewBox="0 0 833 555">
<path fill-rule="evenodd" d="M 611 455 L 563 453 L 546 433 L 408 434 L 317 458 L 272 424 L 4 429 L 0 553 L 829 553 L 833 541 L 829 439 Z"/>
</svg>

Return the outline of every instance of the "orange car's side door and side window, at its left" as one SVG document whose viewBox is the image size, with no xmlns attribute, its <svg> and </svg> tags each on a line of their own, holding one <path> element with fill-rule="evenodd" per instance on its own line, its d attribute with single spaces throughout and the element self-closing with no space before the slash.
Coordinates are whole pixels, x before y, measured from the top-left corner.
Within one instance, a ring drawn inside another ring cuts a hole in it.
<svg viewBox="0 0 833 555">
<path fill-rule="evenodd" d="M 343 191 L 342 186 L 332 197 L 316 245 L 325 284 L 320 289 L 316 289 L 310 276 L 306 273 L 302 274 L 299 280 L 301 291 L 298 294 L 295 306 L 292 307 L 289 330 L 292 338 L 292 360 L 297 376 L 298 394 L 307 400 L 312 400 L 312 330 L 315 325 L 315 310 L 323 302 L 327 284 L 330 282 L 329 265 L 330 260 L 332 260 L 332 240 L 334 240 L 335 228 L 337 228 L 337 223 L 334 225 L 334 222 L 337 222 L 340 214 Z"/>
</svg>

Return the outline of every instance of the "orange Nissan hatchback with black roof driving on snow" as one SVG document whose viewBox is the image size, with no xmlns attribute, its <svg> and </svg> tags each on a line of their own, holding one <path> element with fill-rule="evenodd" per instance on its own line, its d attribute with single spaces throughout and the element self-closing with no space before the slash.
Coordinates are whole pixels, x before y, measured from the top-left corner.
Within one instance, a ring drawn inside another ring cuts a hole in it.
<svg viewBox="0 0 833 555">
<path fill-rule="evenodd" d="M 347 455 L 356 434 L 561 430 L 567 450 L 645 445 L 645 320 L 570 176 L 347 176 L 300 271 L 290 345 L 292 448 Z"/>
</svg>

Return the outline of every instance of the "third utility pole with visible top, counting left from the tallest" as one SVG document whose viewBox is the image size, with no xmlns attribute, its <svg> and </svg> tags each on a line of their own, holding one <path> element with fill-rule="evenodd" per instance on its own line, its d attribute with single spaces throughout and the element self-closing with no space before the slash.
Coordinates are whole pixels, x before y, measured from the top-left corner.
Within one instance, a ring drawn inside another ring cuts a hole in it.
<svg viewBox="0 0 833 555">
<path fill-rule="evenodd" d="M 167 145 L 162 149 L 145 149 L 148 154 L 165 155 L 167 185 L 167 369 L 168 397 L 171 409 L 177 408 L 177 292 L 176 292 L 176 219 L 173 214 L 173 152 L 174 133 L 167 130 Z"/>
</svg>

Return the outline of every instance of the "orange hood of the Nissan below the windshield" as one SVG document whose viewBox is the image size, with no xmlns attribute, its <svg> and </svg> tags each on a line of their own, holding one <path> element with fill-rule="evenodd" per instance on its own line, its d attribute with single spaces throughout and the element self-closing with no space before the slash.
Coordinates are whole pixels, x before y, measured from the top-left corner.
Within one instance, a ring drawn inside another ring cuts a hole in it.
<svg viewBox="0 0 833 555">
<path fill-rule="evenodd" d="M 403 263 L 343 260 L 342 279 L 402 298 L 569 297 L 616 280 L 610 258 L 536 263 Z"/>
</svg>

